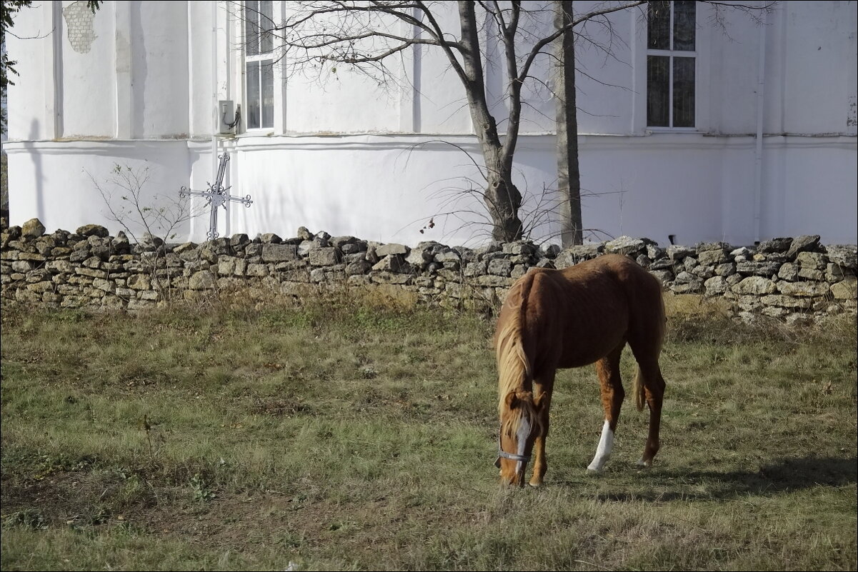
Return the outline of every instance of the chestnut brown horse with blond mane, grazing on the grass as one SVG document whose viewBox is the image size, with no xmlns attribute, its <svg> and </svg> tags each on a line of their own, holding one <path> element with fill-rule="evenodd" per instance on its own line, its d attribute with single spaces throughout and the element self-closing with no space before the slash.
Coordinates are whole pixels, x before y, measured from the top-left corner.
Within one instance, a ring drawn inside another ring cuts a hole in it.
<svg viewBox="0 0 858 572">
<path fill-rule="evenodd" d="M 605 424 L 593 462 L 611 455 L 625 391 L 619 356 L 628 342 L 637 360 L 637 409 L 650 406 L 650 435 L 638 465 L 658 452 L 664 379 L 658 365 L 664 337 L 662 285 L 626 256 L 606 255 L 565 270 L 534 268 L 511 287 L 500 310 L 494 346 L 498 359 L 501 482 L 524 485 L 535 447 L 530 485 L 542 484 L 547 461 L 548 410 L 558 368 L 595 363 Z"/>
</svg>

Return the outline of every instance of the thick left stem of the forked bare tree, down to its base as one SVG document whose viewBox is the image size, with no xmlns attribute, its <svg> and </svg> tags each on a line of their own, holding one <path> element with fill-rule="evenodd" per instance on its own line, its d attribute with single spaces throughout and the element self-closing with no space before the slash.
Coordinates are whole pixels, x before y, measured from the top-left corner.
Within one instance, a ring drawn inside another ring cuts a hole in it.
<svg viewBox="0 0 858 572">
<path fill-rule="evenodd" d="M 468 97 L 468 108 L 474 131 L 480 141 L 486 161 L 486 192 L 484 201 L 492 217 L 492 238 L 503 242 L 522 238 L 523 225 L 518 218 L 522 206 L 522 195 L 512 183 L 512 160 L 504 153 L 504 145 L 498 136 L 498 125 L 489 112 L 486 102 L 486 84 L 480 57 L 480 39 L 474 3 L 459 2 L 459 19 L 462 24 L 462 68 Z M 509 144 L 509 141 L 507 141 Z"/>
</svg>

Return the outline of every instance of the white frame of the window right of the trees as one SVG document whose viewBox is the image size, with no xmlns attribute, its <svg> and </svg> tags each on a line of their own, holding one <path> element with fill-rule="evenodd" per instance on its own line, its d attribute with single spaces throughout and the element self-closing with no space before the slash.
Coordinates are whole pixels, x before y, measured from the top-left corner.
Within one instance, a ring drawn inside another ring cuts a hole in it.
<svg viewBox="0 0 858 572">
<path fill-rule="evenodd" d="M 703 130 L 701 126 L 701 66 L 704 63 L 701 57 L 700 46 L 704 40 L 702 27 L 698 22 L 701 21 L 702 6 L 695 3 L 695 18 L 694 18 L 694 50 L 674 50 L 674 1 L 670 1 L 670 21 L 668 23 L 668 50 L 656 50 L 650 48 L 650 19 L 648 16 L 643 18 L 642 30 L 639 36 L 644 45 L 643 58 L 641 62 L 644 93 L 643 99 L 643 118 L 644 129 L 651 132 L 698 132 Z M 650 4 L 647 4 L 647 10 L 650 9 Z M 648 12 L 647 12 L 648 14 Z M 668 57 L 668 125 L 650 125 L 649 103 L 650 103 L 650 78 L 648 75 L 650 56 Z M 694 117 L 692 126 L 676 127 L 674 126 L 674 58 L 686 57 L 694 61 Z"/>
</svg>

